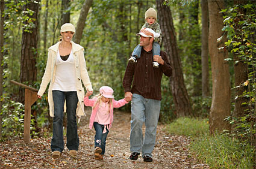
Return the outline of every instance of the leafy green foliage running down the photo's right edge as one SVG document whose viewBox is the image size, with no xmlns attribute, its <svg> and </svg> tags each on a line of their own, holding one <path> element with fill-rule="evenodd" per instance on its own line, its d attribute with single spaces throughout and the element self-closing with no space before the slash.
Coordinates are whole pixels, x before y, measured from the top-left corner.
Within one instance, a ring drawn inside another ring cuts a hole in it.
<svg viewBox="0 0 256 169">
<path fill-rule="evenodd" d="M 247 102 L 243 102 L 246 106 L 245 115 L 242 117 L 229 116 L 226 120 L 233 126 L 229 133 L 230 136 L 239 138 L 243 144 L 255 144 L 255 95 L 256 95 L 256 44 L 255 44 L 255 31 L 256 31 L 256 15 L 255 4 L 235 5 L 232 8 L 222 10 L 225 13 L 224 17 L 225 26 L 222 31 L 225 31 L 228 41 L 225 46 L 231 50 L 232 53 L 239 57 L 235 64 L 243 62 L 247 65 L 248 80 L 235 86 L 234 89 L 247 86 L 247 89 L 242 95 L 236 96 L 245 97 Z M 222 37 L 220 37 L 221 39 Z M 231 61 L 232 58 L 226 59 Z"/>
</svg>

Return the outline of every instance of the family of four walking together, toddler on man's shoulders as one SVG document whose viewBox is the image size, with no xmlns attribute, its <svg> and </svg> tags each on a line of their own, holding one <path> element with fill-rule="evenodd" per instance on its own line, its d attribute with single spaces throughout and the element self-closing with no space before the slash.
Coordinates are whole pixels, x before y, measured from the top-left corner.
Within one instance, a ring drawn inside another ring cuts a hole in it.
<svg viewBox="0 0 256 169">
<path fill-rule="evenodd" d="M 109 86 L 100 87 L 99 93 L 89 99 L 93 89 L 84 59 L 84 48 L 72 41 L 75 26 L 71 23 L 61 26 L 61 40 L 49 47 L 45 73 L 37 93 L 42 98 L 50 83 L 48 102 L 50 116 L 53 117 L 53 158 L 60 157 L 64 150 L 63 112 L 67 113 L 66 146 L 69 155 L 76 156 L 79 147 L 76 116 L 80 118 L 85 115 L 84 105 L 92 107 L 89 128 L 95 129 L 95 159 L 102 160 L 114 119 L 113 109 L 131 101 L 130 159 L 137 160 L 142 152 L 143 161 L 153 160 L 152 151 L 161 107 L 161 78 L 163 74 L 171 76 L 172 68 L 167 54 L 160 51 L 161 29 L 154 8 L 146 11 L 145 21 L 136 34 L 140 36 L 140 44 L 131 54 L 123 77 L 125 97 L 118 101 L 114 99 L 114 90 Z M 144 138 L 143 123 L 146 126 Z"/>
</svg>

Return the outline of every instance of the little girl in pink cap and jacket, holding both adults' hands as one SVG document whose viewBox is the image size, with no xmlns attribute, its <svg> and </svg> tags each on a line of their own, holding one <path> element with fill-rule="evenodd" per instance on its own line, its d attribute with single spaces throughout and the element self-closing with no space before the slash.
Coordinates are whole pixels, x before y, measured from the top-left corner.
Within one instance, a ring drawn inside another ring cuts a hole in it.
<svg viewBox="0 0 256 169">
<path fill-rule="evenodd" d="M 108 86 L 102 86 L 99 94 L 89 99 L 91 95 L 87 92 L 84 96 L 84 105 L 92 107 L 89 128 L 94 126 L 95 134 L 95 159 L 103 159 L 105 153 L 106 138 L 113 122 L 113 108 L 125 105 L 125 99 L 114 100 L 113 89 Z"/>
</svg>

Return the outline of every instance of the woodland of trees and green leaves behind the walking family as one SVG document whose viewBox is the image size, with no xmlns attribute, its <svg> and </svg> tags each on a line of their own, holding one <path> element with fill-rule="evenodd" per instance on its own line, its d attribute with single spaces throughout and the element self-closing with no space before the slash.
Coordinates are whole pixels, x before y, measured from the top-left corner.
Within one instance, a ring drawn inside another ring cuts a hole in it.
<svg viewBox="0 0 256 169">
<path fill-rule="evenodd" d="M 224 132 L 255 147 L 255 1 L 35 0 L 0 1 L 0 138 L 22 137 L 24 91 L 39 89 L 48 47 L 60 26 L 73 23 L 94 93 L 107 85 L 123 98 L 122 78 L 139 43 L 145 11 L 158 11 L 173 76 L 163 77 L 160 122 L 208 119 L 211 134 Z M 123 107 L 130 111 L 130 105 Z M 47 94 L 33 105 L 31 136 L 51 128 Z M 253 150 L 254 151 L 254 150 Z"/>
</svg>

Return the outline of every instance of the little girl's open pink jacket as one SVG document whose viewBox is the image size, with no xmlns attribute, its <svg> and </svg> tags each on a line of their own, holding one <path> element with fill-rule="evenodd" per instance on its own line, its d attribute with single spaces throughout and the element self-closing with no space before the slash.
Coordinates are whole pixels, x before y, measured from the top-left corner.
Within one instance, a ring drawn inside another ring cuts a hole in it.
<svg viewBox="0 0 256 169">
<path fill-rule="evenodd" d="M 93 105 L 95 104 L 96 102 L 96 99 L 89 99 L 89 96 L 85 96 L 84 97 L 84 105 L 86 106 L 90 106 L 90 107 L 93 107 Z M 123 105 L 127 104 L 128 102 L 125 101 L 125 99 L 119 99 L 119 101 L 116 101 L 113 99 L 113 107 L 111 108 L 111 111 L 110 111 L 110 122 L 109 122 L 109 128 L 111 128 L 112 126 L 112 122 L 114 120 L 114 115 L 113 115 L 113 111 L 114 111 L 114 108 L 118 108 L 118 107 L 122 107 Z M 93 122 L 95 120 L 95 116 L 96 116 L 96 112 L 99 108 L 99 104 L 95 106 L 95 108 L 92 110 L 92 114 L 90 116 L 90 123 L 89 123 L 89 128 L 92 129 L 92 126 L 93 126 Z"/>
</svg>

